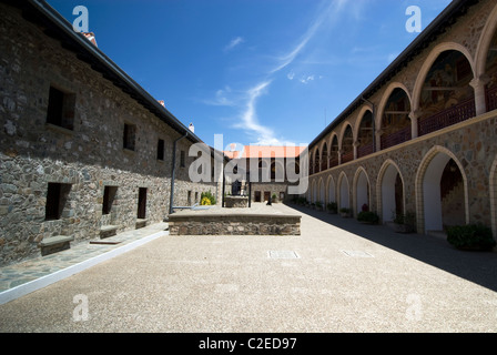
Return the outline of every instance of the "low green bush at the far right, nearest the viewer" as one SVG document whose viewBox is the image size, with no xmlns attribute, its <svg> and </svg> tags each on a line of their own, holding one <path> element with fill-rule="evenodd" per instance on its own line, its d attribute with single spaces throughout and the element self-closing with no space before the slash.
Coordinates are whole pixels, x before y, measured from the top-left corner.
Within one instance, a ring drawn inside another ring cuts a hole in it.
<svg viewBox="0 0 497 355">
<path fill-rule="evenodd" d="M 447 226 L 447 242 L 466 251 L 491 251 L 496 246 L 491 230 L 483 224 Z"/>
</svg>

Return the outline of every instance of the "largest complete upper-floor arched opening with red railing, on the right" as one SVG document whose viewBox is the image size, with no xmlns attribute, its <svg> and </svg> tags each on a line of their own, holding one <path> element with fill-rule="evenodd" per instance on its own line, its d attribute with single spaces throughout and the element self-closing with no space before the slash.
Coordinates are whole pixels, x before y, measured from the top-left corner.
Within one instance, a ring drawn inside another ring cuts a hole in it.
<svg viewBox="0 0 497 355">
<path fill-rule="evenodd" d="M 473 68 L 457 50 L 438 54 L 419 98 L 418 135 L 463 122 L 476 115 L 475 92 L 469 85 Z"/>
</svg>

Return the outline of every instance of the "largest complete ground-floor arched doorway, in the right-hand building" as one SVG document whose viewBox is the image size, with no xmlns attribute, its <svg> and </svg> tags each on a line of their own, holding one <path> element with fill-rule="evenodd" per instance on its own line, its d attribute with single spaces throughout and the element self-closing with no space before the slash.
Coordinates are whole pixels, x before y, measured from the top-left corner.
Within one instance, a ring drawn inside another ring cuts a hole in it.
<svg viewBox="0 0 497 355">
<path fill-rule="evenodd" d="M 446 226 L 466 224 L 466 178 L 462 165 L 447 150 L 435 148 L 420 168 L 418 189 L 423 193 L 425 233 L 444 232 Z M 422 211 L 419 211 L 422 212 Z"/>
</svg>

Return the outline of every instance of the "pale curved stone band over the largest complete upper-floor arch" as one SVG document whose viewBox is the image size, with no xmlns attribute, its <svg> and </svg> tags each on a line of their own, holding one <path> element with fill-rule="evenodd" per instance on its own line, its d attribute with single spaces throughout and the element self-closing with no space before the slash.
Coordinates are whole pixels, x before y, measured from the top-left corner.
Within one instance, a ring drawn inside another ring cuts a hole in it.
<svg viewBox="0 0 497 355">
<path fill-rule="evenodd" d="M 414 84 L 413 100 L 410 101 L 412 111 L 416 112 L 419 110 L 423 85 L 425 84 L 426 75 L 428 75 L 428 72 L 432 69 L 433 64 L 443 52 L 452 50 L 458 51 L 466 57 L 469 65 L 471 67 L 473 75 L 475 75 L 475 63 L 471 54 L 466 47 L 456 42 L 439 43 L 432 50 L 432 52 L 429 52 L 428 57 L 423 63 L 423 67 L 419 70 L 416 82 Z"/>
</svg>

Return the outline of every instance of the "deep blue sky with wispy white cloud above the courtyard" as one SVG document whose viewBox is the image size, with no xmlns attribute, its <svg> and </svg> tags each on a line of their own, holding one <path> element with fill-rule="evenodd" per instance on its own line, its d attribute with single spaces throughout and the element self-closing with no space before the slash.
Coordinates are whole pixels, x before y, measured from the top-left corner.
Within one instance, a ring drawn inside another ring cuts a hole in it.
<svg viewBox="0 0 497 355">
<path fill-rule="evenodd" d="M 84 6 L 99 48 L 214 145 L 306 144 L 450 0 L 48 0 Z"/>
</svg>

